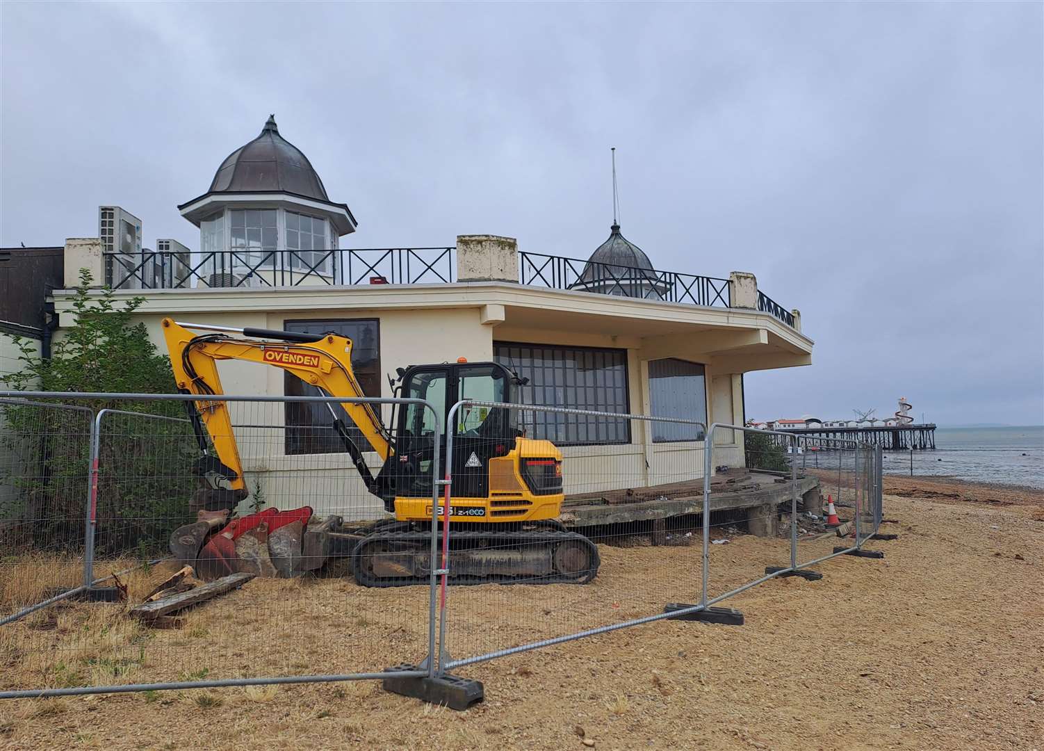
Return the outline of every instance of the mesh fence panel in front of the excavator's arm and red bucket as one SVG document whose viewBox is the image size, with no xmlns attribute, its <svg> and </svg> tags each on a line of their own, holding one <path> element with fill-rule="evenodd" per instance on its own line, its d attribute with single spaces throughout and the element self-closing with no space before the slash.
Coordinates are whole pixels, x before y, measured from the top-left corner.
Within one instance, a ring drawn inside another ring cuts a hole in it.
<svg viewBox="0 0 1044 751">
<path fill-rule="evenodd" d="M 0 639 L 10 658 L 10 667 L 0 681 L 0 697 L 25 696 L 24 691 L 39 696 L 42 690 L 54 695 L 383 678 L 387 667 L 417 665 L 430 654 L 435 636 L 434 526 L 429 523 L 421 534 L 424 558 L 432 571 L 424 586 L 377 589 L 357 584 L 356 565 L 365 568 L 367 564 L 351 557 L 355 543 L 389 515 L 382 499 L 359 478 L 336 435 L 322 422 L 332 421 L 328 406 L 339 410 L 337 404 L 348 401 L 388 413 L 420 408 L 433 416 L 430 404 L 407 399 L 207 397 L 205 408 L 228 404 L 231 414 L 244 483 L 234 493 L 235 513 L 243 516 L 308 506 L 313 510 L 313 529 L 317 521 L 336 517 L 331 522 L 337 535 L 331 542 L 331 559 L 322 567 L 322 561 L 314 561 L 316 570 L 292 578 L 257 577 L 237 591 L 176 613 L 174 620 L 163 624 L 171 628 L 159 629 L 135 617 L 130 609 L 182 566 L 172 560 L 168 547 L 173 530 L 194 521 L 200 509 L 214 510 L 229 498 L 232 484 L 215 475 L 213 461 L 228 459 L 215 453 L 216 444 L 228 437 L 213 427 L 206 431 L 203 449 L 211 459 L 198 464 L 204 454 L 192 423 L 184 417 L 184 404 L 192 398 L 93 397 L 93 404 L 119 406 L 96 413 L 93 472 L 89 471 L 91 410 L 68 410 L 82 422 L 78 432 L 69 429 L 68 419 L 60 429 L 61 423 L 42 422 L 41 417 L 23 430 L 26 440 L 38 443 L 60 445 L 60 440 L 77 438 L 69 453 L 79 464 L 62 486 L 75 494 L 74 511 L 64 513 L 73 517 L 76 534 L 70 535 L 68 549 L 55 548 L 53 535 L 38 548 L 26 532 L 23 515 L 21 526 L 11 529 L 22 530 L 25 544 L 19 555 L 5 559 L 3 602 L 10 610 L 33 599 L 43 600 L 47 592 L 39 587 L 28 592 L 27 580 L 39 577 L 45 556 L 53 561 L 51 565 L 69 570 L 69 581 L 60 584 L 77 584 L 84 569 L 85 539 L 94 559 L 92 566 L 92 557 L 87 556 L 88 571 L 93 571 L 87 576 L 108 586 L 125 586 L 127 599 L 75 604 L 70 599 L 60 607 L 41 608 L 0 627 Z M 47 413 L 38 409 L 35 414 Z M 434 417 L 425 422 L 437 426 Z M 438 487 L 434 478 L 441 474 L 440 432 L 435 427 L 429 452 L 411 475 L 414 483 L 426 485 L 432 507 Z M 355 438 L 358 441 L 361 436 Z M 363 455 L 376 473 L 382 465 L 379 455 L 374 451 Z M 15 487 L 38 480 L 35 465 L 14 460 L 8 464 L 25 467 L 14 471 Z M 392 467 L 400 471 L 398 462 Z M 88 493 L 89 475 L 92 493 Z M 85 525 L 86 521 L 90 523 Z M 267 551 L 279 566 L 277 537 L 272 533 L 268 538 Z M 291 565 L 310 569 L 304 553 Z M 114 572 L 116 579 L 109 576 Z M 23 593 L 16 596 L 13 592 Z M 425 665 L 401 675 L 427 675 L 433 670 L 434 665 Z"/>
</svg>

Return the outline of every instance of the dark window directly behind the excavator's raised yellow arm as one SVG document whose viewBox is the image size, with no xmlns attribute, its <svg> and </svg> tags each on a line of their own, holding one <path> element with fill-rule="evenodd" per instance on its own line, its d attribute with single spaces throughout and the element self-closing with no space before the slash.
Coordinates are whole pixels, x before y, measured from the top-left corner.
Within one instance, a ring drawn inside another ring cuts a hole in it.
<svg viewBox="0 0 1044 751">
<path fill-rule="evenodd" d="M 287 321 L 287 331 L 324 334 L 328 331 L 352 339 L 352 370 L 365 396 L 381 395 L 380 322 L 376 319 Z M 308 385 L 290 373 L 284 377 L 287 396 L 319 396 L 318 389 Z M 363 451 L 371 450 L 369 441 L 349 419 L 343 407 L 334 405 L 334 412 L 348 426 L 348 432 Z M 286 452 L 338 453 L 346 451 L 345 444 L 333 429 L 333 418 L 326 404 L 288 403 L 286 405 Z"/>
</svg>

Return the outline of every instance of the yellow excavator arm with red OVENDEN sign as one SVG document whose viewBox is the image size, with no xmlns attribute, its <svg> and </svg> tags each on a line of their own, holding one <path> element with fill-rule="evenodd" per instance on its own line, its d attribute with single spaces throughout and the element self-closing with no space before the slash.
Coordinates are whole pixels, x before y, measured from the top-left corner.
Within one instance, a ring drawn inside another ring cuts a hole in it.
<svg viewBox="0 0 1044 751">
<path fill-rule="evenodd" d="M 195 333 L 190 329 L 209 333 Z M 163 320 L 163 334 L 174 380 L 179 391 L 185 394 L 203 397 L 222 394 L 217 361 L 236 359 L 281 368 L 332 397 L 352 399 L 365 396 L 352 370 L 352 342 L 345 336 L 328 333 L 316 337 L 294 331 L 182 324 L 171 319 Z M 248 338 L 240 338 L 236 334 Z M 382 460 L 386 461 L 394 454 L 392 437 L 371 404 L 352 401 L 340 404 Z M 245 494 L 242 460 L 232 429 L 229 403 L 203 398 L 194 400 L 192 405 L 200 448 L 207 450 L 206 438 L 200 431 L 200 427 L 205 427 L 220 463 L 220 466 L 211 463 L 209 468 L 222 474 L 231 490 Z M 379 495 L 377 480 L 366 466 L 361 450 L 332 407 L 330 412 L 334 429 L 343 441 L 363 482 L 371 492 Z"/>
</svg>

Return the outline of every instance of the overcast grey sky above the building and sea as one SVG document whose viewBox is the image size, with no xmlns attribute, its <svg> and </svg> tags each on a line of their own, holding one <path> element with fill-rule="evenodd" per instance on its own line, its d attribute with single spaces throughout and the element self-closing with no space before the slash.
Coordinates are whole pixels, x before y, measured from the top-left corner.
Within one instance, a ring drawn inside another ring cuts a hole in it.
<svg viewBox="0 0 1044 751">
<path fill-rule="evenodd" d="M 1040 424 L 1042 7 L 5 2 L 0 241 L 113 203 L 197 248 L 175 205 L 276 113 L 342 247 L 586 258 L 616 146 L 654 265 L 802 310 L 814 365 L 750 374 L 750 417 Z"/>
</svg>

